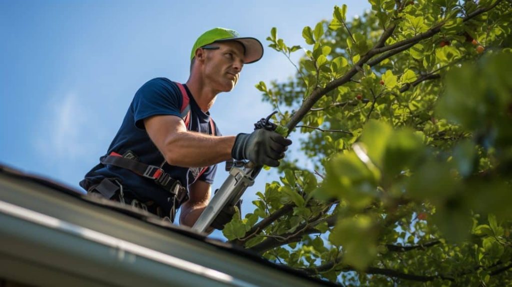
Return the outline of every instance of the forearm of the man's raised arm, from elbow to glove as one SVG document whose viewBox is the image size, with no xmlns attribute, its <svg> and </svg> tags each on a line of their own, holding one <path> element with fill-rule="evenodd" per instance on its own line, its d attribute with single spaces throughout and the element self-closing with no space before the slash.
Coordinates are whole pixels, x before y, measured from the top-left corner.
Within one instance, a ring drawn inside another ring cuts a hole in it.
<svg viewBox="0 0 512 287">
<path fill-rule="evenodd" d="M 167 163 L 182 167 L 203 167 L 231 159 L 234 136 L 216 137 L 186 131 L 165 143 L 162 153 Z"/>
</svg>

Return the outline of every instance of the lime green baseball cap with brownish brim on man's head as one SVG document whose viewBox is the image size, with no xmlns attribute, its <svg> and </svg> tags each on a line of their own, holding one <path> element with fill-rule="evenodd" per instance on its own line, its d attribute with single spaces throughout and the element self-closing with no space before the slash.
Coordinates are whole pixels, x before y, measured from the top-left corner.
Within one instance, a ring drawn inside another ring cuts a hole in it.
<svg viewBox="0 0 512 287">
<path fill-rule="evenodd" d="M 245 64 L 253 63 L 263 57 L 263 45 L 258 39 L 251 37 L 240 37 L 237 31 L 217 27 L 204 32 L 201 36 L 199 36 L 199 38 L 197 38 L 196 43 L 192 48 L 190 60 L 194 59 L 196 56 L 196 50 L 198 48 L 209 45 L 211 43 L 226 41 L 238 41 L 244 46 Z"/>
</svg>

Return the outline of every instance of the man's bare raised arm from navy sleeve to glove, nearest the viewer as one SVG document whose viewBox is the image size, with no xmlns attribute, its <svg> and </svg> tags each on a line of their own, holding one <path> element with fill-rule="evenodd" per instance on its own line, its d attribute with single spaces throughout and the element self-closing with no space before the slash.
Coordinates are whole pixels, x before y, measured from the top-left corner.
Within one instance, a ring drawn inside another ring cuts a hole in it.
<svg viewBox="0 0 512 287">
<path fill-rule="evenodd" d="M 177 116 L 153 116 L 144 120 L 147 134 L 170 165 L 203 167 L 231 159 L 236 137 L 215 137 L 187 131 Z"/>
</svg>

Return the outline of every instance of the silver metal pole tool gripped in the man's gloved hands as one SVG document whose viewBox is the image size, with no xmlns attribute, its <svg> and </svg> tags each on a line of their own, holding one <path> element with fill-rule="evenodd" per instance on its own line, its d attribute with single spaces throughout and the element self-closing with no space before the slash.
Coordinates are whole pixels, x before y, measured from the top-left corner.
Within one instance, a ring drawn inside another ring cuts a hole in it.
<svg viewBox="0 0 512 287">
<path fill-rule="evenodd" d="M 255 123 L 254 130 L 264 128 L 285 136 L 288 132 L 286 127 L 270 122 L 270 118 L 275 113 L 277 112 L 273 112 L 267 118 L 262 118 Z M 229 171 L 227 179 L 211 198 L 210 203 L 203 210 L 192 229 L 197 232 L 205 232 L 227 204 L 234 205 L 240 200 L 245 190 L 254 184 L 254 179 L 262 168 L 263 166 L 248 161 L 227 161 L 226 171 Z"/>
</svg>

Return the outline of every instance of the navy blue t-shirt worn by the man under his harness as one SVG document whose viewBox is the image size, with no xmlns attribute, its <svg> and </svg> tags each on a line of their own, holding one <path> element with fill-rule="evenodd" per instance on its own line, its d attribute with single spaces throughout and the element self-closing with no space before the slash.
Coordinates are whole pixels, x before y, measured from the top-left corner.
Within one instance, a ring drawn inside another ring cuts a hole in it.
<svg viewBox="0 0 512 287">
<path fill-rule="evenodd" d="M 190 99 L 190 122 L 188 130 L 199 131 L 211 135 L 210 115 L 201 111 L 188 88 L 185 90 Z M 139 161 L 145 164 L 161 166 L 164 158 L 155 144 L 151 141 L 144 128 L 144 119 L 155 115 L 173 115 L 181 118 L 180 108 L 183 97 L 176 83 L 166 78 L 155 78 L 140 87 L 134 96 L 123 123 L 112 141 L 106 154 L 112 151 L 124 154 L 131 150 Z M 215 135 L 221 133 L 215 125 Z M 185 168 L 171 166 L 165 163 L 162 167 L 173 179 L 177 179 L 188 189 L 193 184 L 197 174 L 203 168 Z M 198 180 L 213 183 L 217 165 L 209 166 Z M 104 178 L 120 180 L 125 193 L 133 193 L 142 202 L 154 201 L 165 208 L 168 204 L 168 191 L 158 186 L 152 179 L 144 178 L 128 169 L 111 165 L 98 164 L 89 171 L 80 186 L 87 189 L 98 184 Z"/>
</svg>

